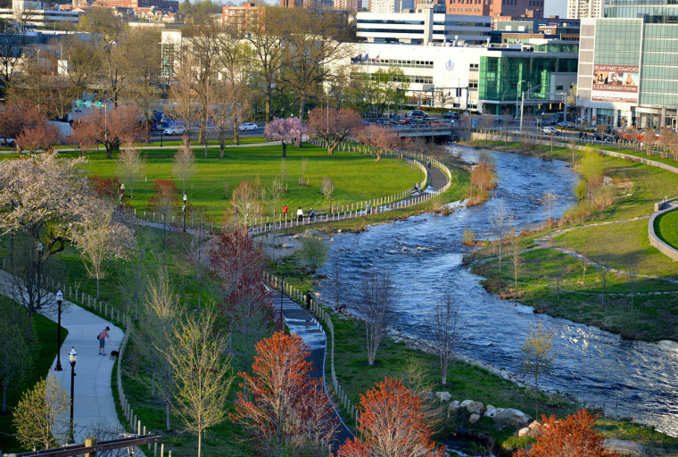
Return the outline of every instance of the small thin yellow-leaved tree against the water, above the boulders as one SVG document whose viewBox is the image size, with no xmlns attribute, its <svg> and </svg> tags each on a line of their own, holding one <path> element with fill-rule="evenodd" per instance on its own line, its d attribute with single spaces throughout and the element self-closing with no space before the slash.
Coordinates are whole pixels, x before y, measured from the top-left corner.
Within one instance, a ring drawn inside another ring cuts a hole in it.
<svg viewBox="0 0 678 457">
<path fill-rule="evenodd" d="M 555 354 L 553 353 L 553 338 L 556 334 L 550 328 L 543 328 L 539 324 L 530 329 L 530 335 L 525 339 L 525 344 L 520 348 L 522 353 L 521 369 L 526 375 L 534 379 L 534 409 L 538 411 L 537 399 L 539 398 L 539 378 L 553 369 Z"/>
</svg>

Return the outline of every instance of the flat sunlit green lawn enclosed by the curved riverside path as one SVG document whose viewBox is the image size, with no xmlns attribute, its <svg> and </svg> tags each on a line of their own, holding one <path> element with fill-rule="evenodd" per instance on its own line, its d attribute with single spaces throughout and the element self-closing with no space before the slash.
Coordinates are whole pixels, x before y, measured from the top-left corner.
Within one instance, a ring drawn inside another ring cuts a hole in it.
<svg viewBox="0 0 678 457">
<path fill-rule="evenodd" d="M 220 221 L 222 212 L 228 207 L 225 185 L 227 194 L 230 195 L 241 181 L 255 182 L 259 179 L 265 186 L 281 175 L 282 147 L 279 145 L 229 148 L 224 159 L 219 159 L 219 151 L 215 148 L 210 148 L 208 159 L 204 158 L 202 149 L 194 152 L 195 174 L 186 180 L 188 201 L 189 204 L 204 207 L 215 221 Z M 182 192 L 182 183 L 172 173 L 174 153 L 173 149 L 143 151 L 147 160 L 145 178 L 135 183 L 134 198 L 128 200 L 137 212 L 145 211 L 153 195 L 155 179 L 172 179 L 179 192 Z M 77 153 L 62 153 L 66 157 L 74 155 Z M 303 158 L 309 160 L 305 174 L 310 184 L 308 187 L 298 185 Z M 327 208 L 329 204 L 320 191 L 320 182 L 325 176 L 335 183 L 332 195 L 332 203 L 335 205 L 393 195 L 413 187 L 418 179 L 418 171 L 410 170 L 400 160 L 383 158 L 376 162 L 369 155 L 343 152 L 328 155 L 327 150 L 308 144 L 304 144 L 302 148 L 288 146 L 285 164 L 286 191 L 276 209 L 277 214 L 284 204 L 289 206 L 290 212 L 294 212 L 299 206 L 305 212 L 309 208 Z M 87 171 L 104 178 L 118 175 L 115 162 L 106 159 L 103 152 L 89 154 Z M 129 195 L 128 180 L 120 178 L 120 181 L 125 184 L 126 194 Z M 272 214 L 268 202 L 265 211 Z"/>
</svg>

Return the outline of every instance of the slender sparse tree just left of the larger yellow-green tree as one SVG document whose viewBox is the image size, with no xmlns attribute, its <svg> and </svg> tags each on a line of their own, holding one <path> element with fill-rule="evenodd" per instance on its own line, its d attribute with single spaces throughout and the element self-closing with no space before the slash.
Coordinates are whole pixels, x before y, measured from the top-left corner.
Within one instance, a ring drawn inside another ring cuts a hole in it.
<svg viewBox="0 0 678 457">
<path fill-rule="evenodd" d="M 144 301 L 144 322 L 138 333 L 139 347 L 145 353 L 148 366 L 152 367 L 153 392 L 156 386 L 165 403 L 165 429 L 170 430 L 170 405 L 173 399 L 174 373 L 163 353 L 173 344 L 172 331 L 181 315 L 177 295 L 170 285 L 170 277 L 164 266 L 149 275 Z"/>
</svg>

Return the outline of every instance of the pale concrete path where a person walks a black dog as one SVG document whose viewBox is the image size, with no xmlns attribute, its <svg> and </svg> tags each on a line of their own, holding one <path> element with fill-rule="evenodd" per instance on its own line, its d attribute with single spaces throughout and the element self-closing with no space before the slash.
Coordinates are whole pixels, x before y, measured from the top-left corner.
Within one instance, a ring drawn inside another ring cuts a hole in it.
<svg viewBox="0 0 678 457">
<path fill-rule="evenodd" d="M 0 277 L 4 284 L 8 284 L 9 273 L 2 272 Z M 11 295 L 7 290 L 0 290 L 5 295 Z M 57 321 L 56 306 L 54 309 L 42 312 L 50 320 Z M 62 371 L 54 371 L 56 356 L 50 368 L 50 376 L 61 382 L 62 388 L 70 395 L 70 348 L 75 347 L 78 361 L 75 366 L 75 395 L 73 399 L 73 423 L 75 424 L 75 441 L 84 443 L 85 437 L 91 436 L 90 428 L 100 420 L 108 422 L 107 431 L 122 430 L 118 413 L 113 403 L 111 386 L 113 361 L 109 354 L 113 349 L 111 342 L 106 341 L 106 356 L 98 355 L 99 342 L 96 336 L 103 328 L 110 327 L 111 339 L 120 346 L 123 331 L 111 322 L 103 320 L 95 314 L 80 308 L 77 304 L 64 300 L 62 303 L 62 327 L 69 331 L 68 337 L 62 341 L 61 359 Z M 54 332 L 56 325 L 54 325 Z M 54 337 L 54 339 L 53 339 Z M 63 336 L 62 336 L 63 337 Z M 45 345 L 56 347 L 56 334 L 49 336 Z"/>
</svg>

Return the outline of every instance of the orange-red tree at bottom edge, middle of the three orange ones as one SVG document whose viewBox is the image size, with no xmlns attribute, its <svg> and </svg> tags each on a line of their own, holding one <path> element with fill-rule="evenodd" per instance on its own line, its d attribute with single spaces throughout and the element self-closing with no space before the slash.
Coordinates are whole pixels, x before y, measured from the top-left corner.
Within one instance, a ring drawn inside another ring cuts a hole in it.
<svg viewBox="0 0 678 457">
<path fill-rule="evenodd" d="M 358 436 L 339 448 L 338 457 L 442 457 L 426 422 L 421 397 L 400 379 L 385 378 L 360 395 Z"/>
</svg>

